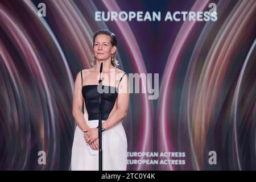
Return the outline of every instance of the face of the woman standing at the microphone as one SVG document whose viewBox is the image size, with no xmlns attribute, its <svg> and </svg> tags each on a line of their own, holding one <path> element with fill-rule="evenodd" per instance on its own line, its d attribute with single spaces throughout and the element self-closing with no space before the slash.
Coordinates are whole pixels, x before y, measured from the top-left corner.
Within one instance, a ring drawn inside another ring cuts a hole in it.
<svg viewBox="0 0 256 182">
<path fill-rule="evenodd" d="M 97 60 L 108 60 L 116 47 L 110 43 L 110 36 L 97 35 L 94 40 L 93 52 Z"/>
</svg>

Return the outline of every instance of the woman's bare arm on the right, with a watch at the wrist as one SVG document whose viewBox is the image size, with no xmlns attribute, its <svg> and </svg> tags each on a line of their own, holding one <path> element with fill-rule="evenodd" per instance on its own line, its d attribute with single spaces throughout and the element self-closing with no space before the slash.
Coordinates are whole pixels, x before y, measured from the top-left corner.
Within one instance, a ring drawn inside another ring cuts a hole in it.
<svg viewBox="0 0 256 182">
<path fill-rule="evenodd" d="M 129 98 L 129 80 L 127 75 L 125 75 L 118 87 L 117 109 L 110 115 L 106 122 L 102 123 L 102 127 L 104 127 L 105 130 L 114 127 L 126 117 L 129 107 Z"/>
</svg>

